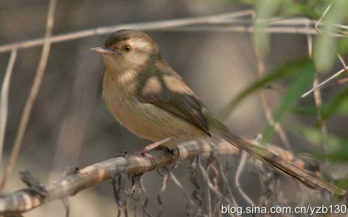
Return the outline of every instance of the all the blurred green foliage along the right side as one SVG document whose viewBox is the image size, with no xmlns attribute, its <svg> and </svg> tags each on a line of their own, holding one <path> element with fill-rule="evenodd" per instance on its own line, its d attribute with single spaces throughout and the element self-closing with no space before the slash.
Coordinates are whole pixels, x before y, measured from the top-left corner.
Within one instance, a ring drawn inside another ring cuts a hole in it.
<svg viewBox="0 0 348 217">
<path fill-rule="evenodd" d="M 292 77 L 292 83 L 285 87 L 285 94 L 282 103 L 278 109 L 273 112 L 275 122 L 281 120 L 285 112 L 295 111 L 303 115 L 320 116 L 320 120 L 328 120 L 333 116 L 348 115 L 348 88 L 339 92 L 329 100 L 324 100 L 322 107 L 318 110 L 313 105 L 306 107 L 296 107 L 294 105 L 312 86 L 315 71 L 322 73 L 333 73 L 330 70 L 334 63 L 339 62 L 336 53 L 344 57 L 348 53 L 348 37 L 337 37 L 347 35 L 348 30 L 344 26 L 348 24 L 348 1 L 346 0 L 229 0 L 230 3 L 248 4 L 255 8 L 255 32 L 253 41 L 255 49 L 260 55 L 265 56 L 270 50 L 269 33 L 263 30 L 270 24 L 268 20 L 275 17 L 290 18 L 294 16 L 305 17 L 311 20 L 319 20 L 322 18 L 318 26 L 318 34 L 314 36 L 313 44 L 313 60 L 299 60 L 285 63 L 277 70 L 268 73 L 260 81 L 251 84 L 240 95 L 238 95 L 231 103 L 222 111 L 221 117 L 227 114 L 252 92 L 266 87 L 274 80 L 280 80 Z M 331 5 L 330 5 L 331 4 Z M 325 10 L 327 13 L 324 15 Z M 299 25 L 304 25 L 300 23 Z M 313 28 L 313 24 L 311 26 Z M 344 74 L 346 78 L 346 74 Z M 343 84 L 346 85 L 346 84 Z M 334 87 L 332 87 L 334 88 Z M 313 96 L 313 95 L 312 95 Z M 317 156 L 332 161 L 348 161 L 348 141 L 340 139 L 337 136 L 328 135 L 323 137 L 322 132 L 318 129 L 321 124 L 318 119 L 316 128 L 300 127 L 299 135 L 306 138 L 312 143 L 327 144 L 330 152 L 326 156 Z M 343 124 L 343 123 L 342 123 Z M 264 139 L 268 140 L 273 134 L 271 126 L 268 126 L 264 132 Z M 324 142 L 324 139 L 326 142 Z M 348 186 L 348 179 L 347 179 Z"/>
</svg>

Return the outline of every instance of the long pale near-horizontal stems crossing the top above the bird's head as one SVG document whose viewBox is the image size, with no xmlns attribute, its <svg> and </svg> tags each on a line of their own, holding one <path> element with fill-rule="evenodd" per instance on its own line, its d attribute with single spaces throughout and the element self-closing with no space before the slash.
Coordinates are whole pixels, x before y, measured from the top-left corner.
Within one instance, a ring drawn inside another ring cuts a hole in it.
<svg viewBox="0 0 348 217">
<path fill-rule="evenodd" d="M 120 29 L 138 29 L 143 31 L 237 31 L 237 32 L 253 32 L 254 27 L 253 26 L 245 26 L 245 25 L 235 25 L 230 27 L 190 27 L 190 28 L 178 28 L 178 27 L 184 27 L 188 25 L 199 25 L 199 24 L 217 24 L 217 23 L 229 23 L 229 24 L 238 24 L 241 23 L 239 20 L 227 20 L 227 19 L 234 19 L 238 17 L 243 16 L 249 16 L 253 13 L 253 10 L 245 10 L 245 11 L 238 11 L 238 12 L 232 12 L 232 13 L 226 13 L 226 14 L 220 14 L 220 15 L 214 15 L 214 16 L 207 16 L 207 17 L 196 17 L 196 18 L 184 18 L 184 19 L 172 19 L 172 20 L 164 20 L 164 21 L 154 21 L 154 22 L 144 22 L 144 23 L 133 23 L 133 24 L 121 24 L 121 25 L 114 25 L 109 27 L 99 27 L 94 29 L 88 29 L 84 31 L 78 31 L 78 32 L 72 32 L 67 34 L 61 34 L 57 36 L 53 36 L 49 39 L 51 43 L 56 42 L 62 42 L 62 41 L 69 41 L 79 38 L 85 38 L 90 37 L 94 35 L 102 35 L 102 34 L 108 34 L 112 33 L 114 31 L 120 30 Z M 279 21 L 281 20 L 281 21 Z M 293 34 L 318 34 L 315 28 L 302 28 L 297 27 L 296 25 L 304 24 L 306 18 L 291 18 L 282 20 L 282 18 L 276 18 L 271 19 L 270 24 L 282 24 L 287 25 L 285 27 L 269 27 L 262 29 L 262 31 L 270 32 L 270 33 L 293 33 Z M 307 19 L 308 20 L 308 19 Z M 249 23 L 253 23 L 253 20 L 246 20 L 243 21 L 244 23 L 247 23 L 246 25 L 249 25 Z M 263 21 L 265 22 L 265 21 Z M 316 24 L 317 21 L 311 21 L 313 24 Z M 348 26 L 334 24 L 339 28 L 342 29 L 348 29 Z M 346 36 L 346 34 L 337 34 L 337 33 L 330 33 L 332 36 Z M 44 39 L 34 39 L 34 40 L 28 40 L 28 41 L 22 41 L 18 43 L 12 43 L 12 44 L 5 44 L 3 46 L 0 46 L 0 53 L 6 52 L 9 50 L 12 50 L 14 48 L 21 49 L 21 48 L 28 48 L 28 47 L 34 47 L 43 44 Z"/>
</svg>

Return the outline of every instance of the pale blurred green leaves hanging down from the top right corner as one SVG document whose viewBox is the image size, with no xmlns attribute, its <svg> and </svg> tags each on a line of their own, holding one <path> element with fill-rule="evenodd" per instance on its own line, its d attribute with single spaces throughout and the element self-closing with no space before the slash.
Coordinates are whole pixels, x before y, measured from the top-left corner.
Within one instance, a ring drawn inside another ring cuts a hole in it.
<svg viewBox="0 0 348 217">
<path fill-rule="evenodd" d="M 322 23 L 348 23 L 348 1 L 346 0 L 230 0 L 229 2 L 254 6 L 257 21 L 269 20 L 276 16 L 284 18 L 303 16 L 319 20 L 332 3 Z M 262 28 L 266 28 L 268 25 L 267 22 L 256 22 L 255 25 L 254 44 L 259 52 L 262 53 L 267 53 L 269 49 L 269 34 L 262 31 Z M 343 31 L 345 35 L 348 35 L 348 31 L 338 29 L 335 25 L 319 25 L 319 29 L 322 29 L 322 34 L 314 43 L 314 59 L 316 68 L 319 71 L 327 71 L 334 62 L 336 51 L 343 55 L 348 51 L 348 39 L 339 39 L 337 45 L 337 38 L 332 37 L 332 34 Z"/>
</svg>

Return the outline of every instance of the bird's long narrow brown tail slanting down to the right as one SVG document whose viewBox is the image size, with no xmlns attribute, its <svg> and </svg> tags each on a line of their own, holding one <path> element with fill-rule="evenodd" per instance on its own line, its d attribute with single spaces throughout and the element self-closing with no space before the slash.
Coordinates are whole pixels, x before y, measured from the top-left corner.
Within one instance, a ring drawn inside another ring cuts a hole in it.
<svg viewBox="0 0 348 217">
<path fill-rule="evenodd" d="M 222 125 L 222 124 L 221 124 Z M 220 126 L 221 126 L 220 125 Z M 269 166 L 275 170 L 282 172 L 291 178 L 301 182 L 305 186 L 319 190 L 324 188 L 332 193 L 343 195 L 345 190 L 340 189 L 339 187 L 332 185 L 328 182 L 325 182 L 321 177 L 304 170 L 297 165 L 288 162 L 281 157 L 271 153 L 270 151 L 264 149 L 261 146 L 254 144 L 252 141 L 234 135 L 228 131 L 226 127 L 218 127 L 217 130 L 213 130 L 216 134 L 223 137 L 229 143 L 233 144 L 237 148 L 244 150 L 254 156 L 255 158 L 267 163 Z"/>
</svg>

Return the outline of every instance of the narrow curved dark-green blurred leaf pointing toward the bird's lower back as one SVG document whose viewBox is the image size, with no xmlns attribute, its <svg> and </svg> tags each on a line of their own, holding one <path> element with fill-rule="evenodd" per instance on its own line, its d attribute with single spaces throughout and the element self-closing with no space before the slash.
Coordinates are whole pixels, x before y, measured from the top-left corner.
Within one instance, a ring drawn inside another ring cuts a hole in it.
<svg viewBox="0 0 348 217">
<path fill-rule="evenodd" d="M 293 60 L 289 61 L 276 70 L 272 71 L 272 73 L 267 74 L 262 79 L 252 83 L 249 85 L 248 88 L 246 88 L 244 91 L 242 91 L 236 98 L 231 100 L 231 102 L 225 106 L 221 112 L 219 112 L 218 117 L 221 120 L 224 120 L 228 117 L 231 111 L 235 109 L 235 107 L 247 96 L 252 94 L 253 92 L 259 90 L 260 88 L 265 87 L 267 84 L 269 84 L 272 81 L 287 78 L 287 77 L 294 77 L 297 76 L 298 73 L 301 72 L 301 68 L 304 66 L 310 64 L 312 61 L 308 58 L 300 59 L 300 60 Z"/>
</svg>

